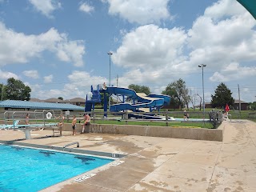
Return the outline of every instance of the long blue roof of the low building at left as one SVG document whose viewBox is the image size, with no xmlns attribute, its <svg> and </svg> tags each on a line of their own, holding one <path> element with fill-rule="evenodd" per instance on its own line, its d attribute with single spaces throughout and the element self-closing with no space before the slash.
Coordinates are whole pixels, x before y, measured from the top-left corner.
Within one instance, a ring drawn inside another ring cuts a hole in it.
<svg viewBox="0 0 256 192">
<path fill-rule="evenodd" d="M 0 107 L 22 108 L 22 109 L 38 109 L 38 110 L 84 110 L 82 106 L 72 104 L 52 103 L 52 102 L 26 102 L 16 100 L 6 100 L 0 102 Z"/>
</svg>

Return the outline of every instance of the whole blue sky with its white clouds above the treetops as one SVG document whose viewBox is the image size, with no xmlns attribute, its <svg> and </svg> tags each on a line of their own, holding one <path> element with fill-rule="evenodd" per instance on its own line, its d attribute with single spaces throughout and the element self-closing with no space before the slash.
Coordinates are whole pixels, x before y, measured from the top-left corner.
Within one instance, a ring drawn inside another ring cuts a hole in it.
<svg viewBox="0 0 256 192">
<path fill-rule="evenodd" d="M 86 98 L 111 69 L 114 86 L 118 76 L 160 94 L 182 78 L 202 95 L 203 63 L 206 102 L 221 82 L 254 102 L 255 26 L 235 0 L 0 0 L 0 82 L 18 78 L 32 98 Z"/>
</svg>

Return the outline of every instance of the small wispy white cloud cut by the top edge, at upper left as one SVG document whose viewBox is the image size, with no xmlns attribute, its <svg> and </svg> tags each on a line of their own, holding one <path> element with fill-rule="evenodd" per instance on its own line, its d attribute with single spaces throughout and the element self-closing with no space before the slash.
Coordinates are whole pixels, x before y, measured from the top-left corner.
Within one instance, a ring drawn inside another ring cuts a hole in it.
<svg viewBox="0 0 256 192">
<path fill-rule="evenodd" d="M 51 13 L 62 7 L 58 0 L 29 0 L 36 10 L 51 18 Z"/>
</svg>

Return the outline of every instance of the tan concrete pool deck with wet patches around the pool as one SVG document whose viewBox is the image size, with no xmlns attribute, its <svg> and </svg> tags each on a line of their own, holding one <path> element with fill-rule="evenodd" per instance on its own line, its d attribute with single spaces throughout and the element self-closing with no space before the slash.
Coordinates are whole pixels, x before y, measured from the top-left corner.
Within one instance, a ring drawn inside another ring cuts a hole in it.
<svg viewBox="0 0 256 192">
<path fill-rule="evenodd" d="M 223 122 L 223 141 L 158 138 L 121 134 L 77 134 L 62 137 L 50 130 L 31 133 L 0 130 L 0 140 L 21 144 L 65 146 L 79 142 L 80 149 L 126 154 L 115 165 L 43 191 L 256 191 L 256 123 Z"/>
</svg>

